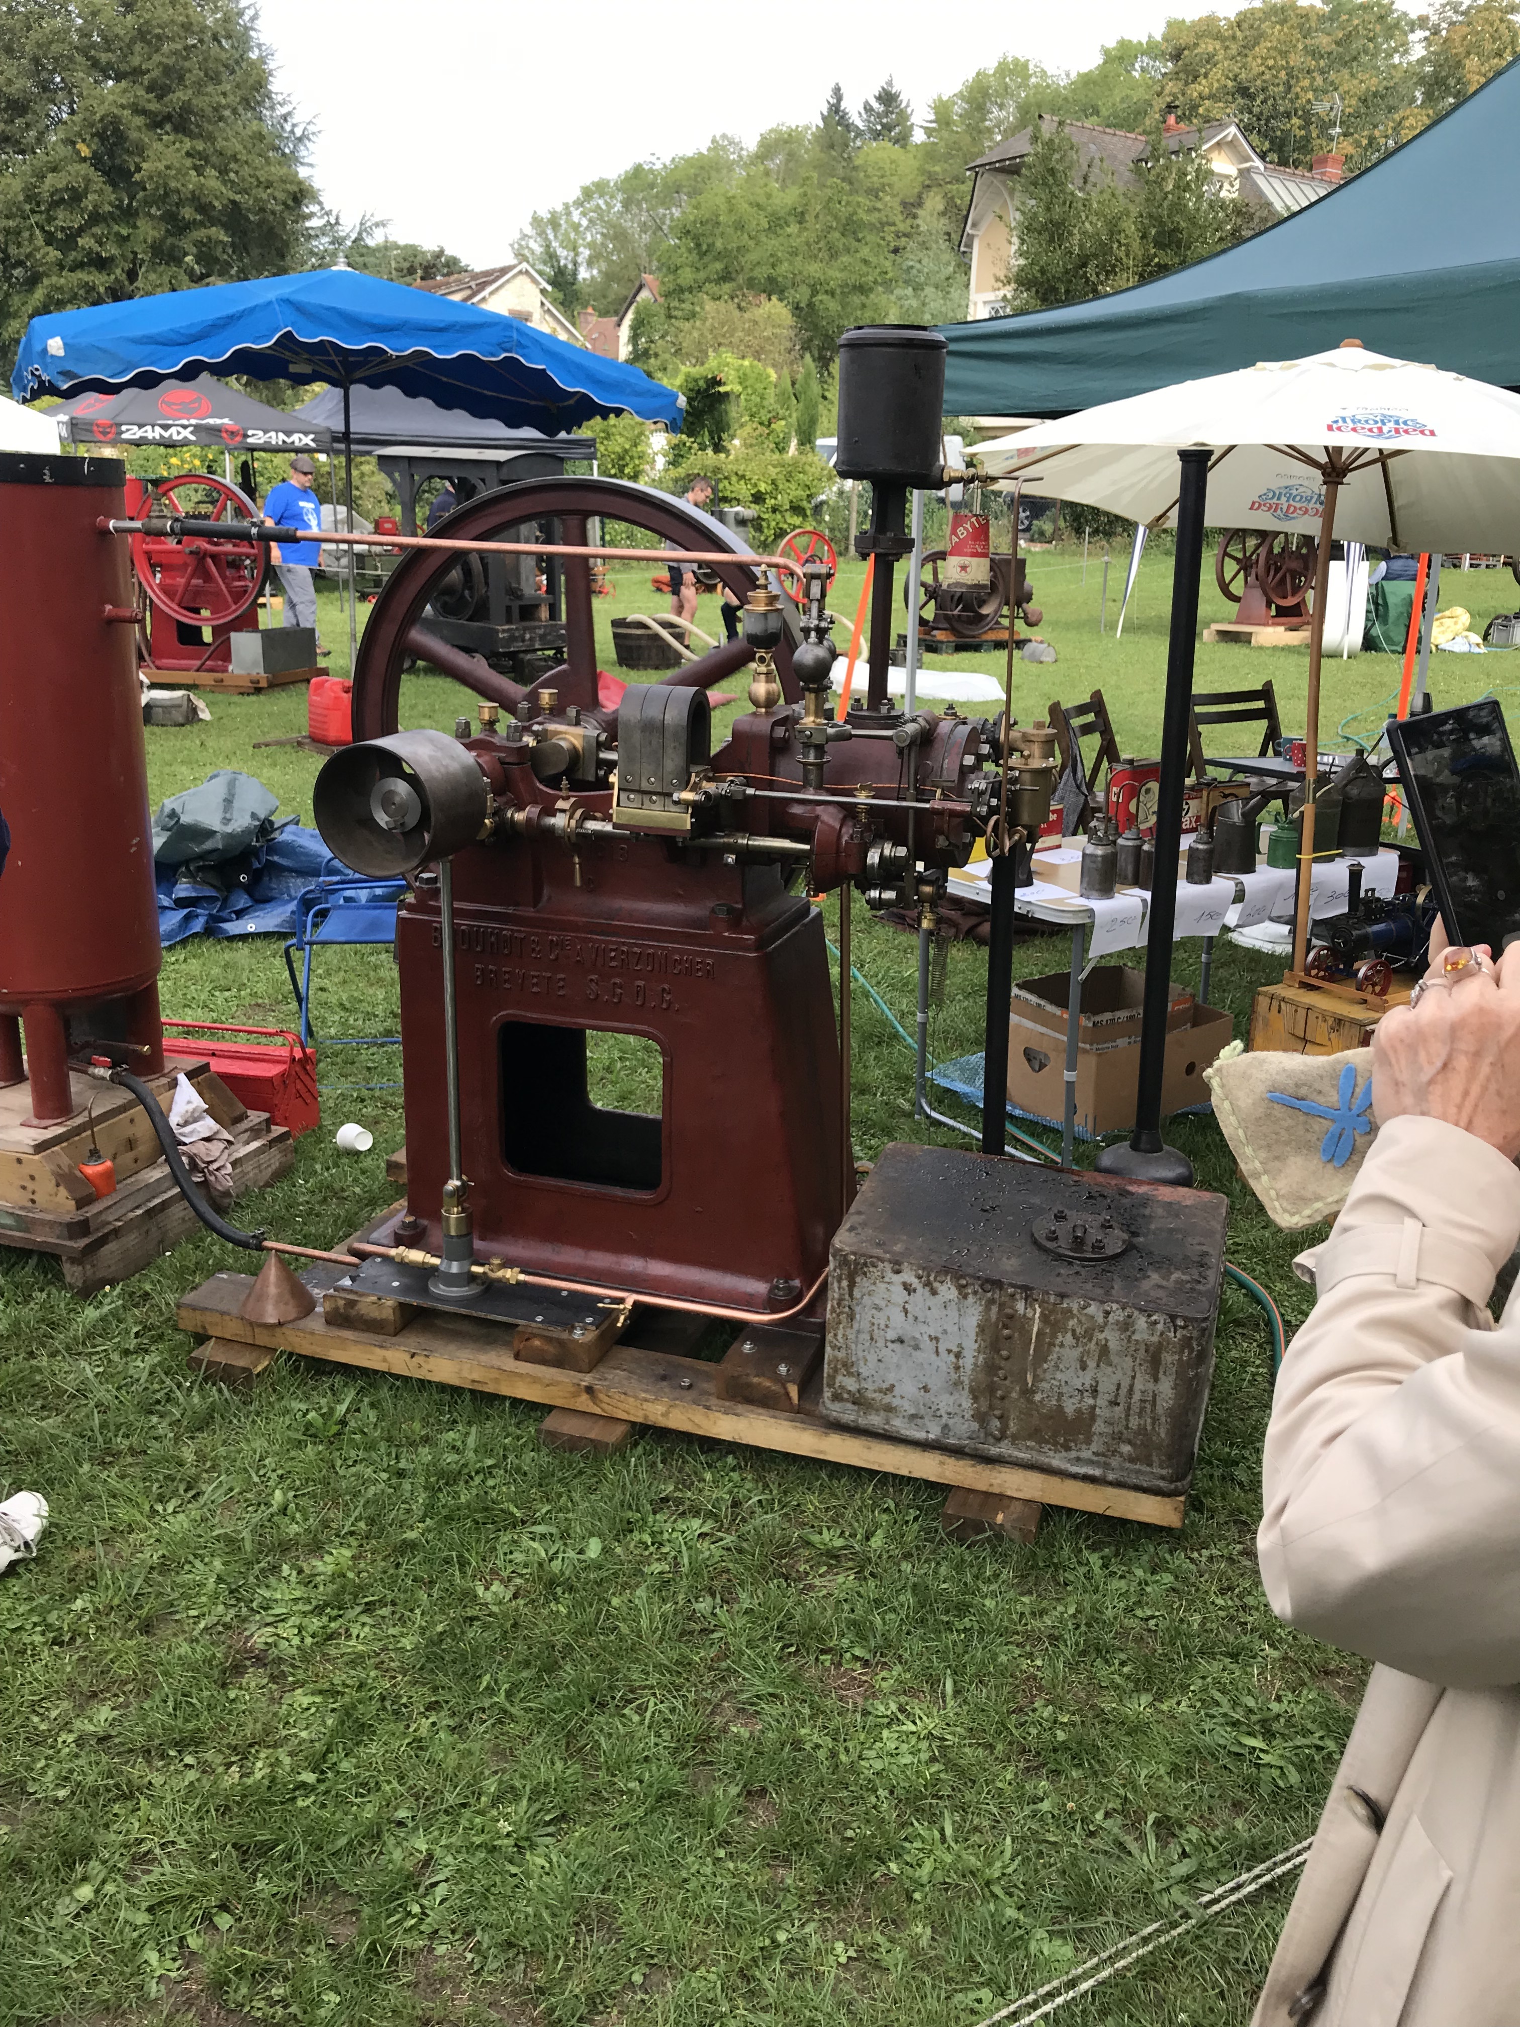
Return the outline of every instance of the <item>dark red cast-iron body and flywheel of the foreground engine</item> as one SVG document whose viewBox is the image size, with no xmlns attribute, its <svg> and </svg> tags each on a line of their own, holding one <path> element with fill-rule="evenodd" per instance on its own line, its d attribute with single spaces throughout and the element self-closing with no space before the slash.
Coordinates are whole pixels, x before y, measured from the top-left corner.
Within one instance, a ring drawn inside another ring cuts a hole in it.
<svg viewBox="0 0 1520 2027">
<path fill-rule="evenodd" d="M 507 486 L 454 515 L 446 533 L 488 539 L 553 517 L 574 543 L 588 515 L 679 547 L 736 541 L 669 495 L 576 478 Z M 632 718 L 651 697 L 659 709 L 669 689 L 689 695 L 736 675 L 752 651 L 715 649 L 665 685 L 634 685 L 618 711 L 602 709 L 590 572 L 567 559 L 567 661 L 527 697 L 428 641 L 426 588 L 446 568 L 411 555 L 381 592 L 355 671 L 353 730 L 357 740 L 397 730 L 405 655 L 517 711 L 468 740 L 490 786 L 490 835 L 452 861 L 476 1257 L 703 1305 L 788 1309 L 823 1275 L 855 1182 L 825 922 L 809 892 L 898 878 L 912 857 L 965 861 L 981 829 L 973 805 L 983 817 L 987 809 L 991 776 L 981 770 L 993 730 L 955 716 L 851 711 L 849 736 L 827 746 L 831 799 L 809 799 L 792 626 L 776 651 L 784 701 L 740 718 L 697 770 L 693 801 L 677 805 L 691 829 L 640 827 L 647 811 L 614 811 Z M 742 551 L 715 570 L 740 598 L 760 578 Z M 705 711 L 701 699 L 681 709 Z M 910 795 L 914 809 L 904 807 Z M 805 872 L 807 890 L 794 892 Z M 436 876 L 405 898 L 395 951 L 407 1204 L 413 1241 L 438 1251 L 450 1161 Z M 588 1036 L 598 1032 L 655 1044 L 659 1113 L 592 1103 Z"/>
</svg>

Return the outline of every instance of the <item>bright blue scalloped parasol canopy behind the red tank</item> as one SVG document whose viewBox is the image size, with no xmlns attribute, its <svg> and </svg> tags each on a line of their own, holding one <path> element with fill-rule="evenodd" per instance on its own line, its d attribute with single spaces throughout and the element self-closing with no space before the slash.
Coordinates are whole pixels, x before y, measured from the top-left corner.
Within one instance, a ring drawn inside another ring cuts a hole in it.
<svg viewBox="0 0 1520 2027">
<path fill-rule="evenodd" d="M 551 434 L 614 414 L 679 430 L 683 407 L 675 389 L 638 367 L 565 345 L 515 316 L 351 268 L 34 316 L 10 387 L 18 401 L 34 401 L 158 387 L 197 373 L 399 387 Z"/>
</svg>

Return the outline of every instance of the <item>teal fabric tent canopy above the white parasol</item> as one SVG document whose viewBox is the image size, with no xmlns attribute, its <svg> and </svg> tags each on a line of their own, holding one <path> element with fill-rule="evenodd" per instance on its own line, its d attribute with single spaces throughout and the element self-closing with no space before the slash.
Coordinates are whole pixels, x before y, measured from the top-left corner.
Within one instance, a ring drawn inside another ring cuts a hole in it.
<svg viewBox="0 0 1520 2027">
<path fill-rule="evenodd" d="M 1520 63 L 1255 239 L 1060 310 L 940 326 L 946 416 L 1068 416 L 1360 339 L 1520 389 Z"/>
</svg>

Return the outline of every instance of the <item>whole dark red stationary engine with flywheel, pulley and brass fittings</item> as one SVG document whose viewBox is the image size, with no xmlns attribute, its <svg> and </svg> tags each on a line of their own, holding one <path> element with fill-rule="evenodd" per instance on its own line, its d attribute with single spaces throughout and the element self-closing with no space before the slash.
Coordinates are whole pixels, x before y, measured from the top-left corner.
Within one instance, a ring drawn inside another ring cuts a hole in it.
<svg viewBox="0 0 1520 2027">
<path fill-rule="evenodd" d="M 602 513 L 732 547 L 685 503 L 614 480 L 529 482 L 468 509 L 480 537 L 547 511 L 569 541 Z M 381 594 L 355 677 L 359 744 L 328 760 L 314 801 L 351 866 L 411 878 L 399 1236 L 442 1259 L 438 1299 L 474 1299 L 470 1263 L 497 1255 L 756 1318 L 803 1311 L 855 1188 L 809 896 L 853 886 L 898 904 L 989 823 L 1032 839 L 1054 738 L 1009 728 L 1003 807 L 997 724 L 869 699 L 835 720 L 825 570 L 799 610 L 738 551 L 717 570 L 746 600 L 742 641 L 630 687 L 616 711 L 578 653 L 586 566 L 567 559 L 563 669 L 525 693 L 448 661 L 486 697 L 478 728 L 395 732 L 399 653 L 436 659 L 417 618 L 436 570 L 413 557 Z M 705 687 L 744 663 L 750 716 L 713 752 Z M 659 1111 L 594 1103 L 602 1034 L 657 1048 Z"/>
</svg>

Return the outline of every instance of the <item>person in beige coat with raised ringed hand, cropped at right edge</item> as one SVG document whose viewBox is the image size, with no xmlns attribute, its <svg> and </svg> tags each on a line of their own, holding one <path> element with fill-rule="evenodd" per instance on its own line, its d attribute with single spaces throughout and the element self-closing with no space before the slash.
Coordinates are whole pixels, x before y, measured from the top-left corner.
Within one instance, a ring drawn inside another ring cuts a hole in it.
<svg viewBox="0 0 1520 2027">
<path fill-rule="evenodd" d="M 1267 1429 L 1273 1611 L 1376 1666 L 1252 2027 L 1520 2023 L 1520 947 L 1441 943 Z"/>
</svg>

